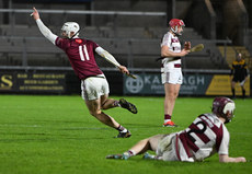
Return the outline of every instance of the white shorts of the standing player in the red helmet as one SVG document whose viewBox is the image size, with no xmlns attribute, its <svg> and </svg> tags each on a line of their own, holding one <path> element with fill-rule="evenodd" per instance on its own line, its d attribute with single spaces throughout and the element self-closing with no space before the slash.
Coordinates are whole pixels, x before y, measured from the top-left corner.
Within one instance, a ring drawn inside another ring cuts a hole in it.
<svg viewBox="0 0 252 174">
<path fill-rule="evenodd" d="M 162 79 L 162 84 L 164 83 L 182 84 L 183 74 L 181 71 L 162 72 L 161 79 Z"/>
</svg>

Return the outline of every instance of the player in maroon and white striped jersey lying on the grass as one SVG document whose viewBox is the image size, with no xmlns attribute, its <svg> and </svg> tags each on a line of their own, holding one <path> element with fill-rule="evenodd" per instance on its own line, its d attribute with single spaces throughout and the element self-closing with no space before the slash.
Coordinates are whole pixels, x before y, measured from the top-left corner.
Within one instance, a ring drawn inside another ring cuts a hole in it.
<svg viewBox="0 0 252 174">
<path fill-rule="evenodd" d="M 219 162 L 245 162 L 245 158 L 230 158 L 228 152 L 230 137 L 225 124 L 232 119 L 234 108 L 232 100 L 216 97 L 211 113 L 199 115 L 185 130 L 144 139 L 123 154 L 106 158 L 127 160 L 152 150 L 157 155 L 145 153 L 144 159 L 195 162 L 218 152 Z"/>
</svg>

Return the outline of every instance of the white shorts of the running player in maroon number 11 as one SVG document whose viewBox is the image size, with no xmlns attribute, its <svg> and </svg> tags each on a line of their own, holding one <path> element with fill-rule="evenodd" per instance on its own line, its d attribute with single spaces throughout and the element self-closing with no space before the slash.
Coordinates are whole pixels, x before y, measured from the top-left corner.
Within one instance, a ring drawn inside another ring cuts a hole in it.
<svg viewBox="0 0 252 174">
<path fill-rule="evenodd" d="M 104 76 L 90 77 L 81 80 L 81 94 L 85 101 L 100 98 L 102 95 L 108 94 L 110 88 Z"/>
</svg>

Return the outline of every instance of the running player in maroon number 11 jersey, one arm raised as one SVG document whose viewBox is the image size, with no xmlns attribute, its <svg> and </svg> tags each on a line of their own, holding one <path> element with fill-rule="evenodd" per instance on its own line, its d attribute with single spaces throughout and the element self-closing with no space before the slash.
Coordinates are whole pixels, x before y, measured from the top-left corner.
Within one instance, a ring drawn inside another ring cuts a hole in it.
<svg viewBox="0 0 252 174">
<path fill-rule="evenodd" d="M 42 34 L 67 54 L 72 69 L 81 80 L 82 97 L 85 101 L 90 114 L 101 123 L 117 129 L 119 134 L 116 138 L 130 137 L 131 134 L 126 128 L 121 126 L 114 118 L 103 113 L 102 109 L 119 106 L 137 114 L 137 108 L 124 98 L 121 98 L 119 101 L 108 98 L 108 83 L 105 76 L 98 67 L 94 55 L 96 53 L 101 57 L 105 58 L 107 61 L 117 67 L 122 73 L 129 74 L 127 68 L 121 66 L 111 54 L 94 42 L 79 38 L 78 35 L 80 27 L 78 23 L 65 23 L 61 28 L 62 38 L 60 38 L 53 34 L 50 30 L 44 25 L 39 19 L 37 10 L 35 8 L 33 8 L 33 10 L 34 11 L 31 15 L 33 15 L 36 21 Z"/>
</svg>

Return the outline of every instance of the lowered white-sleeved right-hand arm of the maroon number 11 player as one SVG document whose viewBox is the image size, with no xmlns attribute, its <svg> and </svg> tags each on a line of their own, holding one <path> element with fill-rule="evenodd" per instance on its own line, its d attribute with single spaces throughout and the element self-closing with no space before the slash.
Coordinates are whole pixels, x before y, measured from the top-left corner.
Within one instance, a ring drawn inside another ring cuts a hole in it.
<svg viewBox="0 0 252 174">
<path fill-rule="evenodd" d="M 118 68 L 121 72 L 129 74 L 128 69 L 126 67 L 124 67 L 124 66 L 121 66 L 118 63 L 118 61 L 116 61 L 116 59 L 108 51 L 104 50 L 102 47 L 98 47 L 95 49 L 95 51 L 100 56 L 102 56 L 103 58 L 105 58 L 108 62 L 113 63 L 116 68 Z"/>
</svg>

